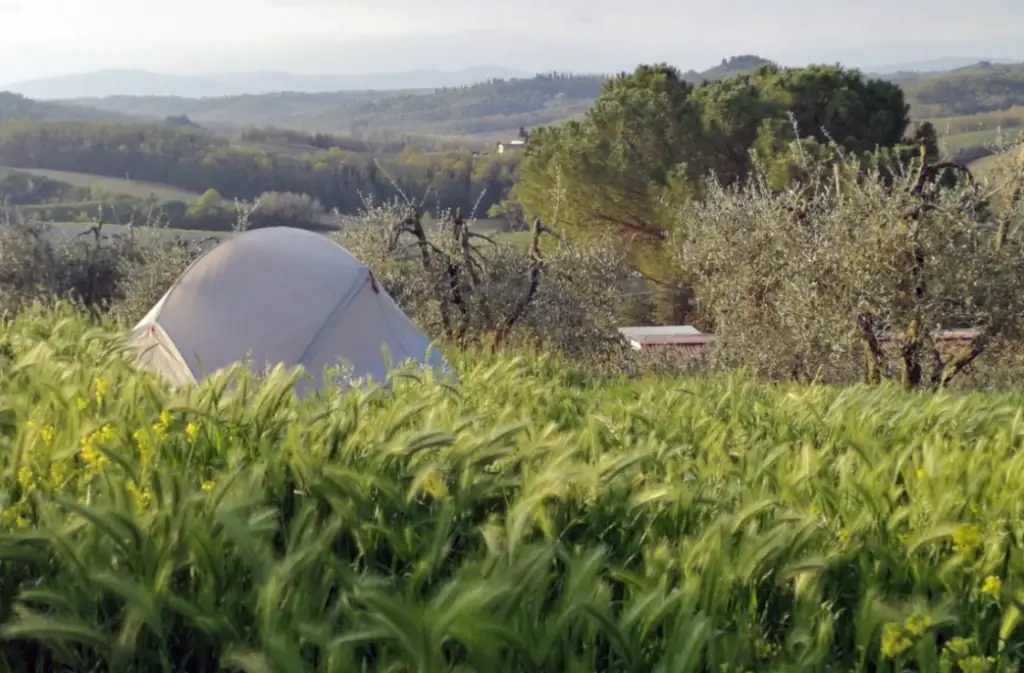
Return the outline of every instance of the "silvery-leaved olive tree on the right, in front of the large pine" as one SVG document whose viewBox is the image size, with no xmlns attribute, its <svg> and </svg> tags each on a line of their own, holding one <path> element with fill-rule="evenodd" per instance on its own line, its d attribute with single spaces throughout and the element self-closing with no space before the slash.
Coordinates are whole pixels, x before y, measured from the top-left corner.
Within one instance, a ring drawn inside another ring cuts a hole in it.
<svg viewBox="0 0 1024 673">
<path fill-rule="evenodd" d="M 841 152 L 801 156 L 819 163 L 800 188 L 773 190 L 759 173 L 677 214 L 677 261 L 715 323 L 719 365 L 943 387 L 994 340 L 1020 335 L 1020 150 L 984 183 L 953 164 L 865 173 Z M 976 336 L 944 346 L 938 333 L 950 328 Z"/>
</svg>

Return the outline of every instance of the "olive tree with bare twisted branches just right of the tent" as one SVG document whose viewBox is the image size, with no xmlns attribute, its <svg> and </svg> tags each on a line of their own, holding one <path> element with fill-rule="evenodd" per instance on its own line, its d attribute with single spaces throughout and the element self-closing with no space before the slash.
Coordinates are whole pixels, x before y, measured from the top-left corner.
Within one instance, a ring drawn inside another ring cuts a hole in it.
<svg viewBox="0 0 1024 673">
<path fill-rule="evenodd" d="M 338 235 L 431 336 L 509 341 L 568 355 L 610 353 L 629 270 L 600 240 L 568 244 L 539 220 L 528 247 L 471 230 L 460 213 L 428 228 L 415 206 L 369 208 Z"/>
</svg>

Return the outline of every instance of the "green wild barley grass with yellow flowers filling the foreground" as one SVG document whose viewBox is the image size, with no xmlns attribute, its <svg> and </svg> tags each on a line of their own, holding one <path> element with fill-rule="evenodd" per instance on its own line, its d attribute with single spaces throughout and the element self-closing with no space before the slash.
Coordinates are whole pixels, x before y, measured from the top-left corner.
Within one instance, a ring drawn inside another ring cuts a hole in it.
<svg viewBox="0 0 1024 673">
<path fill-rule="evenodd" d="M 0 670 L 1007 671 L 1022 395 L 460 382 L 171 393 L 0 337 Z"/>
</svg>

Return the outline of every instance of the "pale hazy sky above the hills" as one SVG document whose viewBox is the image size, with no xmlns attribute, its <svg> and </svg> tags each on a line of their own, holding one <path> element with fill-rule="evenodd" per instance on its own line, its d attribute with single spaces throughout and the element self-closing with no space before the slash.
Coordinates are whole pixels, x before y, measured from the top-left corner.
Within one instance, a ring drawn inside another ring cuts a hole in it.
<svg viewBox="0 0 1024 673">
<path fill-rule="evenodd" d="M 1024 59 L 1024 0 L 0 0 L 0 83 L 168 73 Z"/>
</svg>

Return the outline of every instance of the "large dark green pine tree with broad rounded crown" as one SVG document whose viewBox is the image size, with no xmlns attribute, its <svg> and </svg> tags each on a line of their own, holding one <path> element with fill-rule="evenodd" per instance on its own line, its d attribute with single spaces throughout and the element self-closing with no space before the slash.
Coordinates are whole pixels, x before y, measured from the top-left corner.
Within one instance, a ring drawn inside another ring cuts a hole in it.
<svg viewBox="0 0 1024 673">
<path fill-rule="evenodd" d="M 669 290 L 675 316 L 687 312 L 685 268 L 671 263 L 665 241 L 675 208 L 712 182 L 744 180 L 754 162 L 780 188 L 792 175 L 797 132 L 802 146 L 835 142 L 854 153 L 903 140 L 907 109 L 898 87 L 833 67 L 752 73 L 696 89 L 668 66 L 641 66 L 610 80 L 580 121 L 539 129 L 519 168 L 514 196 L 527 217 L 569 235 L 610 233 L 648 280 Z M 808 144 L 810 142 L 810 144 Z"/>
</svg>

